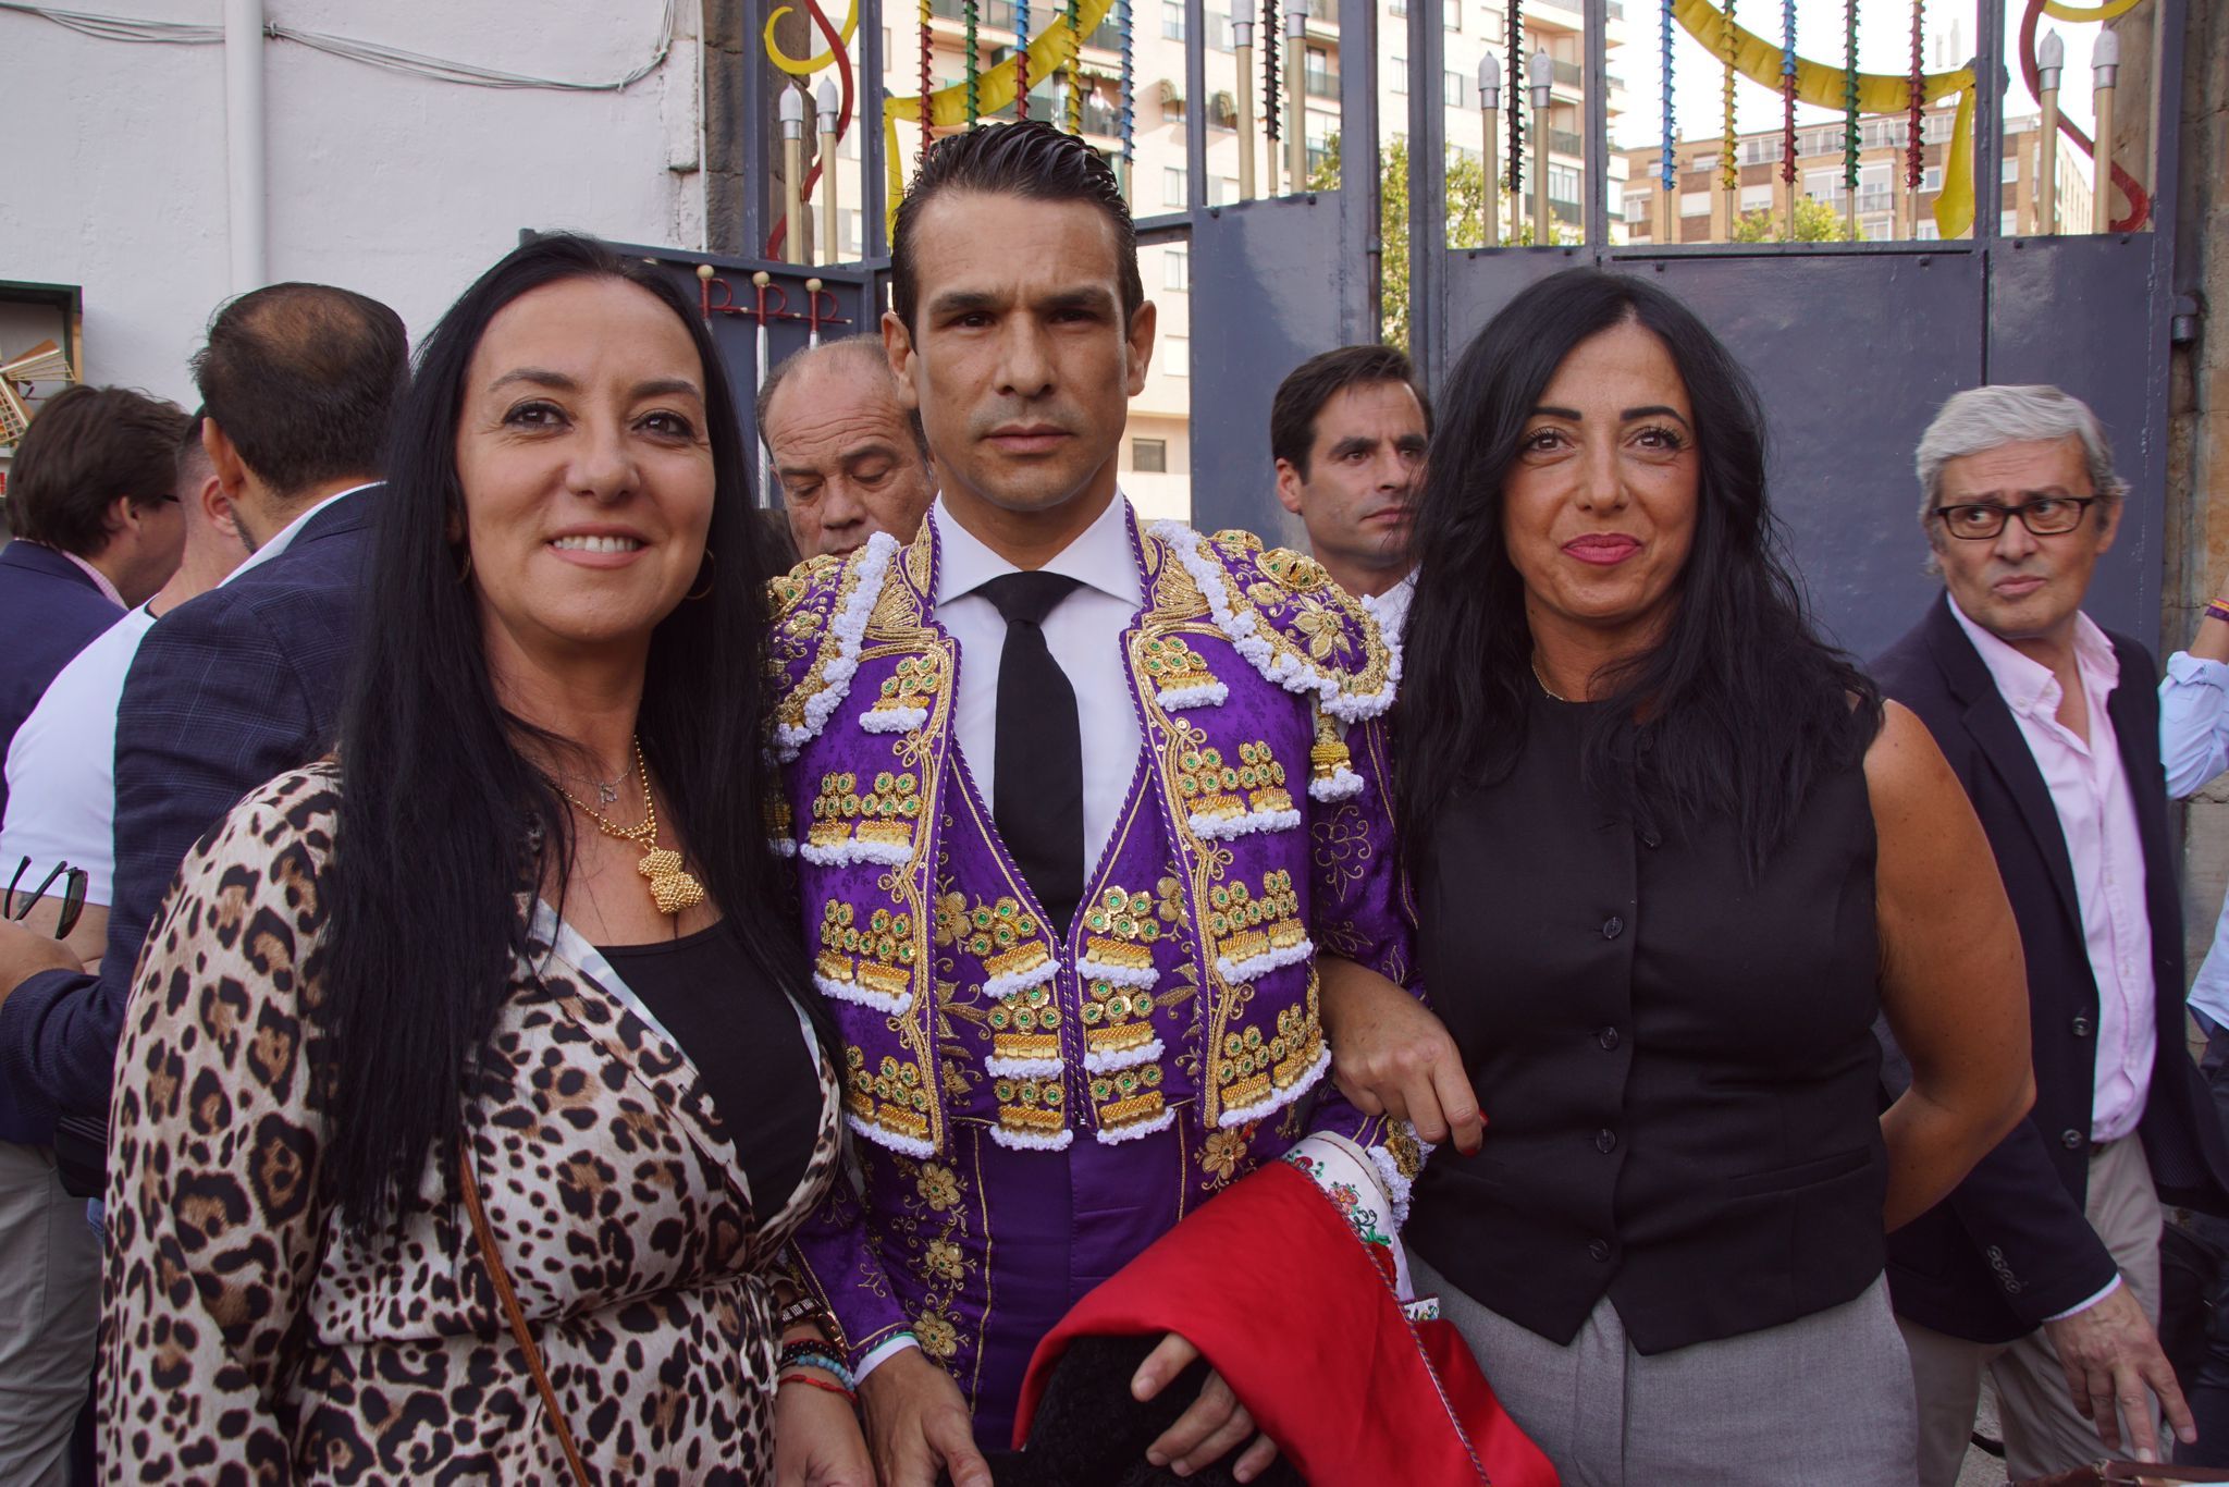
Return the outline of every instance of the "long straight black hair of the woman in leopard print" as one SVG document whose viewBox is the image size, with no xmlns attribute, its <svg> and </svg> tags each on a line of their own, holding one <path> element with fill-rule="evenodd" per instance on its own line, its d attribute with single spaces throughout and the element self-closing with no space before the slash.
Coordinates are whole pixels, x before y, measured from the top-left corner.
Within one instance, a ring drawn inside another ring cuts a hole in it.
<svg viewBox="0 0 2229 1487">
<path fill-rule="evenodd" d="M 328 1034 L 325 1190 L 359 1233 L 415 1190 L 430 1150 L 444 1159 L 455 1150 L 468 1070 L 526 941 L 517 894 L 555 878 L 564 901 L 571 816 L 519 745 L 566 740 L 508 713 L 488 676 L 473 586 L 457 577 L 457 421 L 495 314 L 571 279 L 620 279 L 653 294 L 702 361 L 711 589 L 653 631 L 637 731 L 707 894 L 758 968 L 814 1005 L 791 890 L 760 814 L 780 785 L 762 754 L 773 557 L 751 511 L 727 375 L 695 310 L 653 268 L 588 239 L 537 236 L 481 274 L 419 348 L 377 504 L 341 716 L 332 923 L 314 1005 Z"/>
</svg>

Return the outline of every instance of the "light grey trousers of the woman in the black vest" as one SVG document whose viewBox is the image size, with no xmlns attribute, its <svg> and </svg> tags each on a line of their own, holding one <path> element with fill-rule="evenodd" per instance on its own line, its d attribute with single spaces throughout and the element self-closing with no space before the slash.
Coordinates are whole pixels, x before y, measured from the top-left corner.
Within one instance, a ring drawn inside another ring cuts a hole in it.
<svg viewBox="0 0 2229 1487">
<path fill-rule="evenodd" d="M 1415 1251 L 1409 1269 L 1565 1487 L 1912 1483 L 1912 1373 L 1886 1280 L 1783 1326 L 1643 1358 L 1609 1298 L 1563 1347 L 1456 1291 Z"/>
</svg>

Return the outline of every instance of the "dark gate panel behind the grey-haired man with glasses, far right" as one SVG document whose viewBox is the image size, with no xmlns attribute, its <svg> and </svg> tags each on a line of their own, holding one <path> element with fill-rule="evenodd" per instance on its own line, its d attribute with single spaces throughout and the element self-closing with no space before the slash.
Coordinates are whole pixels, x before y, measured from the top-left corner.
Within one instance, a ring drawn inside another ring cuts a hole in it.
<svg viewBox="0 0 2229 1487">
<path fill-rule="evenodd" d="M 2120 537 L 2091 582 L 2091 618 L 2160 640 L 2167 528 L 2167 321 L 2153 314 L 2160 234 L 2022 239 L 1990 254 L 1988 379 L 2048 381 L 2086 401 L 2129 482 Z"/>
</svg>

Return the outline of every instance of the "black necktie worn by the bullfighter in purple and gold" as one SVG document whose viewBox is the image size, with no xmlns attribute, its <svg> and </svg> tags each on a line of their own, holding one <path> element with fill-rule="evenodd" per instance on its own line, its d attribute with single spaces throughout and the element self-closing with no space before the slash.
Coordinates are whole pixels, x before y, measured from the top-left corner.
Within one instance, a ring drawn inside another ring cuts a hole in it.
<svg viewBox="0 0 2229 1487">
<path fill-rule="evenodd" d="M 1005 615 L 990 814 L 1059 934 L 1083 898 L 1083 729 L 1043 624 L 1074 589 L 1061 573 L 1005 573 L 981 589 Z"/>
</svg>

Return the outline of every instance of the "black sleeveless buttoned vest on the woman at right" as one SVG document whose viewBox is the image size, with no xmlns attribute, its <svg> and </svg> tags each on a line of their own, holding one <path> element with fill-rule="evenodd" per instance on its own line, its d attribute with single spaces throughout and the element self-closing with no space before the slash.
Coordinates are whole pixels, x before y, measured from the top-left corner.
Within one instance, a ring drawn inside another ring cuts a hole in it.
<svg viewBox="0 0 2229 1487">
<path fill-rule="evenodd" d="M 1406 1240 L 1556 1342 L 1605 1293 L 1641 1353 L 1848 1302 L 1888 1170 L 1863 769 L 1752 878 L 1730 823 L 1654 838 L 1587 791 L 1585 713 L 1536 698 L 1511 776 L 1433 827 L 1420 968 L 1489 1124 Z"/>
</svg>

